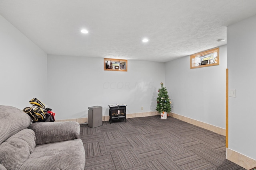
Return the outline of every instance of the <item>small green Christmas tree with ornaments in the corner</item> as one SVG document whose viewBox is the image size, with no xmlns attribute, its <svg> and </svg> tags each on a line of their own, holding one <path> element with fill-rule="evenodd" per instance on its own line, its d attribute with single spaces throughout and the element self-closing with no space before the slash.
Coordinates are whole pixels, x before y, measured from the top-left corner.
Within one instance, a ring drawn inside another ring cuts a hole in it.
<svg viewBox="0 0 256 170">
<path fill-rule="evenodd" d="M 168 92 L 165 87 L 163 87 L 164 83 L 160 83 L 161 88 L 158 90 L 158 98 L 156 98 L 157 105 L 156 105 L 156 111 L 159 113 L 166 111 L 170 112 L 171 111 L 171 101 L 168 96 Z"/>
</svg>

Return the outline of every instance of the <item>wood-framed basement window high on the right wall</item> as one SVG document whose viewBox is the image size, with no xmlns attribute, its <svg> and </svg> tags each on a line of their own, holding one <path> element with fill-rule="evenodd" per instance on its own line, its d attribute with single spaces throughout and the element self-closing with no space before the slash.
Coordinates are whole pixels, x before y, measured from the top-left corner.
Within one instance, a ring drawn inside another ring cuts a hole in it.
<svg viewBox="0 0 256 170">
<path fill-rule="evenodd" d="M 190 55 L 190 68 L 219 65 L 219 48 Z"/>
</svg>

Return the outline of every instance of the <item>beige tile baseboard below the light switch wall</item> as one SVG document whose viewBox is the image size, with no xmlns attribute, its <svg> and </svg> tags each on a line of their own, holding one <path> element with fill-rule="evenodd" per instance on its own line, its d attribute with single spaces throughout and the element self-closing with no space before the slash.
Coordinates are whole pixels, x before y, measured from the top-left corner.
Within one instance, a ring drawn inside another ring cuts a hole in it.
<svg viewBox="0 0 256 170">
<path fill-rule="evenodd" d="M 229 148 L 226 148 L 226 158 L 247 170 L 256 167 L 256 160 Z"/>
</svg>

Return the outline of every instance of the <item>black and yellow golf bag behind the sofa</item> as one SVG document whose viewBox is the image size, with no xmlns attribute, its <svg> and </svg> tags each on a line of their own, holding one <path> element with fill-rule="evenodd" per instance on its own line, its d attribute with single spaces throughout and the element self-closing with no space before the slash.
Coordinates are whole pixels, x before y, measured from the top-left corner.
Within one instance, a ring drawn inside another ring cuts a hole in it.
<svg viewBox="0 0 256 170">
<path fill-rule="evenodd" d="M 27 113 L 34 122 L 49 122 L 55 121 L 55 113 L 52 109 L 46 107 L 40 100 L 33 98 L 29 101 L 31 107 L 25 107 L 23 111 Z"/>
</svg>

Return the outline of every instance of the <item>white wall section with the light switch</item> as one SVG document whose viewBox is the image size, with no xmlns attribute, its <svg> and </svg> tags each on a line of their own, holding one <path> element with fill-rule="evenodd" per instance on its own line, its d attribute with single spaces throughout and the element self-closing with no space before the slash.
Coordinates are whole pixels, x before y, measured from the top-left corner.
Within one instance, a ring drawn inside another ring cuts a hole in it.
<svg viewBox="0 0 256 170">
<path fill-rule="evenodd" d="M 228 148 L 256 160 L 256 16 L 230 25 L 228 34 Z"/>
</svg>

